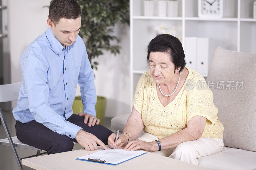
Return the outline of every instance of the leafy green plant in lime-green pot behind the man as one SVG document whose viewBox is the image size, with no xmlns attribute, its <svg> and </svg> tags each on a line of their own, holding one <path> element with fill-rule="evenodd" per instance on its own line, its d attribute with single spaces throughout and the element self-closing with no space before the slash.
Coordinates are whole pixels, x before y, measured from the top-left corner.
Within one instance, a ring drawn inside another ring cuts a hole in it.
<svg viewBox="0 0 256 170">
<path fill-rule="evenodd" d="M 92 69 L 97 70 L 97 58 L 103 51 L 113 54 L 120 53 L 120 46 L 112 44 L 113 40 L 119 41 L 113 35 L 117 23 L 129 24 L 129 0 L 76 0 L 82 10 L 79 35 L 84 40 L 88 59 Z M 106 98 L 97 96 L 96 117 L 100 124 L 104 122 Z M 83 112 L 81 97 L 76 97 L 73 103 L 74 113 Z"/>
</svg>

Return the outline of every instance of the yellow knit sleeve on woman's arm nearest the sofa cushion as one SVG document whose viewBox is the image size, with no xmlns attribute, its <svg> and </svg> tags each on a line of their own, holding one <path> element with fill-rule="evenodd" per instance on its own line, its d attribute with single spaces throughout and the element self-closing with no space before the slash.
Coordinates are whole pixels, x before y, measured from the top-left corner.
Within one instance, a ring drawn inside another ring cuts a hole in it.
<svg viewBox="0 0 256 170">
<path fill-rule="evenodd" d="M 204 88 L 197 88 L 198 84 L 204 84 Z M 213 94 L 208 88 L 205 80 L 200 80 L 196 83 L 195 87 L 188 92 L 187 96 L 187 124 L 188 121 L 194 116 L 205 117 L 206 126 L 214 121 L 214 104 Z"/>
</svg>

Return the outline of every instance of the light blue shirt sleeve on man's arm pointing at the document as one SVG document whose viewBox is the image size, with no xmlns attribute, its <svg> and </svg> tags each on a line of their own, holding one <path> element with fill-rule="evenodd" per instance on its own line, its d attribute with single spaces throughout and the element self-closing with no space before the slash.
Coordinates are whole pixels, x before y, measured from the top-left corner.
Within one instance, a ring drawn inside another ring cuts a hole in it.
<svg viewBox="0 0 256 170">
<path fill-rule="evenodd" d="M 48 102 L 48 64 L 35 55 L 28 55 L 21 70 L 28 95 L 29 110 L 36 122 L 42 123 L 45 127 L 61 135 L 75 138 L 78 130 L 83 128 L 66 121 L 50 107 Z"/>
</svg>

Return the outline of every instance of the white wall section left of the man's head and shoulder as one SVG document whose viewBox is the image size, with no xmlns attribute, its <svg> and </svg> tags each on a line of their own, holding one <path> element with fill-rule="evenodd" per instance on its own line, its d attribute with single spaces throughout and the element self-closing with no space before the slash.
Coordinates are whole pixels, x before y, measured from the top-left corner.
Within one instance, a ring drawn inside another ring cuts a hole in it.
<svg viewBox="0 0 256 170">
<path fill-rule="evenodd" d="M 20 57 L 28 45 L 47 28 L 50 0 L 9 0 L 8 38 L 10 42 L 11 83 L 22 81 Z M 15 107 L 17 102 L 12 102 Z"/>
</svg>

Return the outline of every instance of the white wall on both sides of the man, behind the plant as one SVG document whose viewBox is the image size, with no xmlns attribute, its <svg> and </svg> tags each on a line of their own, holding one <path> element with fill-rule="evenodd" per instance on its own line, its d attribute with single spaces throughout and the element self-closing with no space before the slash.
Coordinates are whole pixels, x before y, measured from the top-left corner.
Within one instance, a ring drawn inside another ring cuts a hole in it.
<svg viewBox="0 0 256 170">
<path fill-rule="evenodd" d="M 9 0 L 9 42 L 11 58 L 11 83 L 22 81 L 20 57 L 27 46 L 47 29 L 46 19 L 50 0 Z M 98 71 L 95 71 L 96 93 L 107 98 L 106 116 L 127 114 L 130 112 L 130 60 L 129 26 L 118 24 L 115 35 L 120 38 L 121 53 L 114 56 L 109 52 L 98 59 Z M 12 102 L 15 107 L 17 102 Z"/>
</svg>

